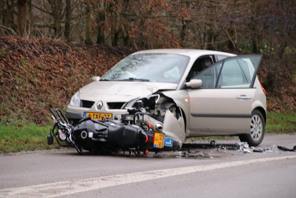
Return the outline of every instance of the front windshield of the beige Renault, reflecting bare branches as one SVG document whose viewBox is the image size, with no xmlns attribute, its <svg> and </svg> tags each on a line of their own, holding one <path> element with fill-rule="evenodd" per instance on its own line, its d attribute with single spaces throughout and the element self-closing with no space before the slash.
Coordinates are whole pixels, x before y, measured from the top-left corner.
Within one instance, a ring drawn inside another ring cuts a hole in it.
<svg viewBox="0 0 296 198">
<path fill-rule="evenodd" d="M 100 80 L 146 81 L 178 84 L 189 57 L 176 54 L 136 54 L 123 59 Z"/>
</svg>

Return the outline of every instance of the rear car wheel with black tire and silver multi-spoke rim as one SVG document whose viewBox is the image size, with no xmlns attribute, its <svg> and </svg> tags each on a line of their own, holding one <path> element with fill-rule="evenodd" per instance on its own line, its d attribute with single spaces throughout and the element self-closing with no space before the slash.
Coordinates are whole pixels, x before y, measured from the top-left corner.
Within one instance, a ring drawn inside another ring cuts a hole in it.
<svg viewBox="0 0 296 198">
<path fill-rule="evenodd" d="M 264 137 L 265 122 L 260 111 L 255 109 L 250 120 L 250 133 L 239 135 L 239 140 L 247 142 L 250 146 L 258 146 Z"/>
</svg>

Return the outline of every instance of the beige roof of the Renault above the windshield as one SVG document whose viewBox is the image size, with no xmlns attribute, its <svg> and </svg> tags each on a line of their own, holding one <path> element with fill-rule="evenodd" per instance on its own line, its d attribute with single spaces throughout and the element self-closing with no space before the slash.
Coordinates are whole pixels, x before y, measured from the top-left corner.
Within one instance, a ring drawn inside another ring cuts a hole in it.
<svg viewBox="0 0 296 198">
<path fill-rule="evenodd" d="M 196 57 L 202 55 L 225 55 L 225 56 L 236 56 L 235 54 L 227 53 L 227 52 L 218 52 L 212 50 L 204 50 L 204 49 L 149 49 L 149 50 L 142 50 L 133 53 L 135 54 L 158 54 L 158 53 L 168 53 L 168 54 L 179 54 L 179 55 L 186 55 L 189 57 Z"/>
</svg>

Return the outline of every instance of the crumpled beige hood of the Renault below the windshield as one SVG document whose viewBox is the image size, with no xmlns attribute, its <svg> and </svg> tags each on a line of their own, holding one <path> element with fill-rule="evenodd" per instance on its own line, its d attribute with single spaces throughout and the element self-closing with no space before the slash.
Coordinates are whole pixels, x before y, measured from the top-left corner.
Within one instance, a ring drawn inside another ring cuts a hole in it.
<svg viewBox="0 0 296 198">
<path fill-rule="evenodd" d="M 178 84 L 164 82 L 130 82 L 130 81 L 97 81 L 80 89 L 80 98 L 108 97 L 133 99 L 141 96 L 151 95 L 158 90 L 176 90 Z M 117 99 L 116 99 L 117 100 Z"/>
</svg>

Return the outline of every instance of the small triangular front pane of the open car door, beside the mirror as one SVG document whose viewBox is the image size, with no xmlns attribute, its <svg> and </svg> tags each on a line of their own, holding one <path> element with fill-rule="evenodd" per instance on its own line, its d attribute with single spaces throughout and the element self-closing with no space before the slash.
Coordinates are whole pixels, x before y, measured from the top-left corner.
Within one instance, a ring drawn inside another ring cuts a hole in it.
<svg viewBox="0 0 296 198">
<path fill-rule="evenodd" d="M 202 86 L 200 88 L 215 88 L 221 65 L 222 63 L 214 64 L 210 68 L 203 70 L 196 76 L 192 77 L 192 79 L 202 80 Z"/>
</svg>

